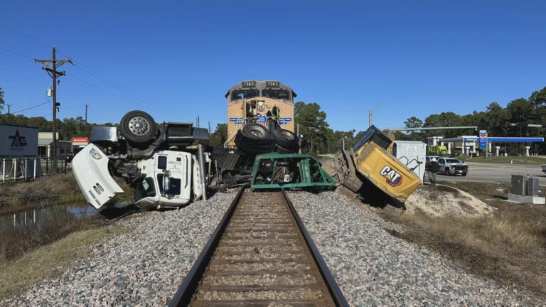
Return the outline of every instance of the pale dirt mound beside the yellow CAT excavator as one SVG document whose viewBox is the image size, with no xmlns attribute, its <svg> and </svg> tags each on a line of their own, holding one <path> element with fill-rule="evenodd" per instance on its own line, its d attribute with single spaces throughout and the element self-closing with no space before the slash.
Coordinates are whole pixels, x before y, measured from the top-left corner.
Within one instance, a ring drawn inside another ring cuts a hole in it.
<svg viewBox="0 0 546 307">
<path fill-rule="evenodd" d="M 483 203 L 473 195 L 447 185 L 421 185 L 405 202 L 410 214 L 444 215 L 483 215 L 496 208 Z"/>
</svg>

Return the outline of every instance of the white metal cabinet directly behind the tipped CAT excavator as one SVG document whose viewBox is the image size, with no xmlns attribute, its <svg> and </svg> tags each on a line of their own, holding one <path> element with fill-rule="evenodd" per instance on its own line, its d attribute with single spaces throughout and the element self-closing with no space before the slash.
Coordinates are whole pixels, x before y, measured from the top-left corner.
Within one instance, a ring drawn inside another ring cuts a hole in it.
<svg viewBox="0 0 546 307">
<path fill-rule="evenodd" d="M 395 146 L 392 147 L 392 155 L 407 168 L 410 168 L 421 179 L 421 184 L 423 184 L 427 144 L 422 141 L 395 141 Z"/>
</svg>

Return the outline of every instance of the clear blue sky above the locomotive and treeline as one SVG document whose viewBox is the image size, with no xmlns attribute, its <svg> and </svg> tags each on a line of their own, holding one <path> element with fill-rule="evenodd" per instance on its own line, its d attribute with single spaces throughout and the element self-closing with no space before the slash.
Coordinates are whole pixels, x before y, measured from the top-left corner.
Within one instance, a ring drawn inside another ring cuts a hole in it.
<svg viewBox="0 0 546 307">
<path fill-rule="evenodd" d="M 502 0 L 6 1 L 0 87 L 12 111 L 46 102 L 51 81 L 32 58 L 56 45 L 77 64 L 63 66 L 61 118 L 83 116 L 87 103 L 90 122 L 143 109 L 159 122 L 200 115 L 214 127 L 226 121 L 228 88 L 260 79 L 321 104 L 333 129 L 365 129 L 370 108 L 380 128 L 403 126 L 545 87 L 545 9 Z M 49 106 L 23 114 L 49 118 Z"/>
</svg>

